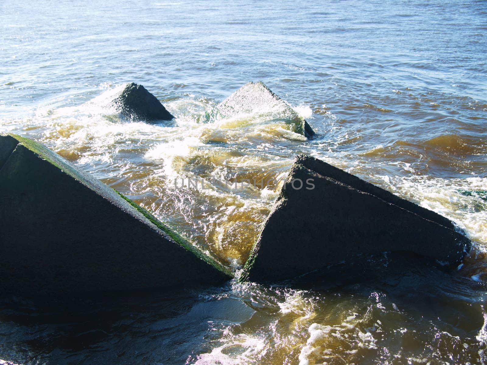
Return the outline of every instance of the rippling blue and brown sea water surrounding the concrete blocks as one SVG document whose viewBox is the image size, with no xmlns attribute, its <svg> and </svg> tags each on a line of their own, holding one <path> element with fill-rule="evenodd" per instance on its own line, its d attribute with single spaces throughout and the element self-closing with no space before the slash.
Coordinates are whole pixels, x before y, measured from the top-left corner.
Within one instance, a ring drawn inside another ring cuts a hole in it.
<svg viewBox="0 0 487 365">
<path fill-rule="evenodd" d="M 486 1 L 3 0 L 0 28 L 0 132 L 46 144 L 227 264 L 242 264 L 278 189 L 202 196 L 164 183 L 282 177 L 297 153 L 433 209 L 474 241 L 457 273 L 411 271 L 393 284 L 230 283 L 76 305 L 3 298 L 0 359 L 487 362 L 487 203 L 461 193 L 487 190 Z M 82 106 L 132 81 L 175 125 L 120 124 Z M 205 119 L 248 81 L 263 81 L 317 137 Z M 205 145 L 210 137 L 225 147 Z"/>
</svg>

